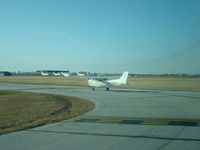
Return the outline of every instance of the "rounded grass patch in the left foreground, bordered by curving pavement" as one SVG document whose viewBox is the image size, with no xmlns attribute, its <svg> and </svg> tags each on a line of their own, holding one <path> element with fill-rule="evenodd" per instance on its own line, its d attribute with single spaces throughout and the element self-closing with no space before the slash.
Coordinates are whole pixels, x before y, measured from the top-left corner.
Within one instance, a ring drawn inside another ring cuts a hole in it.
<svg viewBox="0 0 200 150">
<path fill-rule="evenodd" d="M 69 119 L 94 107 L 76 97 L 0 91 L 0 134 Z"/>
</svg>

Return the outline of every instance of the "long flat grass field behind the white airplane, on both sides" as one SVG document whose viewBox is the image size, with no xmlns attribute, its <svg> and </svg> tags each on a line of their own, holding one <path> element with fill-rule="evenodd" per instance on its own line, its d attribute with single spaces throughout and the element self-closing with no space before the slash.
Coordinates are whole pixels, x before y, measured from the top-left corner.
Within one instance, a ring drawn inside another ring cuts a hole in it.
<svg viewBox="0 0 200 150">
<path fill-rule="evenodd" d="M 0 83 L 85 86 L 89 88 L 87 84 L 87 78 L 78 78 L 78 77 L 10 76 L 10 77 L 0 77 Z M 200 92 L 200 78 L 129 77 L 128 85 L 118 86 L 116 88 Z"/>
</svg>

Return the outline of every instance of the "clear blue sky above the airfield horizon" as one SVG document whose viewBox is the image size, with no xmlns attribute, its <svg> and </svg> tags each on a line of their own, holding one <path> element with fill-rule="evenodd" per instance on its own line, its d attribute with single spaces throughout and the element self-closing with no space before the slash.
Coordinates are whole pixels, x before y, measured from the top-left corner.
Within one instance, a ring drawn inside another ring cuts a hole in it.
<svg viewBox="0 0 200 150">
<path fill-rule="evenodd" d="M 0 70 L 200 74 L 199 0 L 1 0 Z"/>
</svg>

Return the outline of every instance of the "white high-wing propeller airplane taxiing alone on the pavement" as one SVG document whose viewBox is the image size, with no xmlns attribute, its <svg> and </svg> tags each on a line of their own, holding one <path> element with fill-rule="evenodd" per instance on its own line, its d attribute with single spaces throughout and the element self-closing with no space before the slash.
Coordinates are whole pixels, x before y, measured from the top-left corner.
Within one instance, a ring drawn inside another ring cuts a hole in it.
<svg viewBox="0 0 200 150">
<path fill-rule="evenodd" d="M 128 78 L 128 72 L 124 72 L 121 78 L 119 79 L 89 79 L 88 84 L 93 87 L 93 91 L 96 88 L 99 87 L 106 87 L 106 90 L 109 91 L 109 87 L 111 86 L 117 86 L 117 85 L 125 85 Z"/>
</svg>

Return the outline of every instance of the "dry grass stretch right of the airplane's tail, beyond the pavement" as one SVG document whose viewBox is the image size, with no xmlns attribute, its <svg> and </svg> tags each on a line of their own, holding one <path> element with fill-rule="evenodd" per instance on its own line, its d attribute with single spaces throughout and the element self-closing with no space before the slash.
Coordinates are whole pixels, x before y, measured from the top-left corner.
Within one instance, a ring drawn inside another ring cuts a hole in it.
<svg viewBox="0 0 200 150">
<path fill-rule="evenodd" d="M 131 77 L 125 88 L 200 92 L 200 78 Z"/>
</svg>

